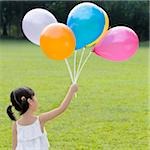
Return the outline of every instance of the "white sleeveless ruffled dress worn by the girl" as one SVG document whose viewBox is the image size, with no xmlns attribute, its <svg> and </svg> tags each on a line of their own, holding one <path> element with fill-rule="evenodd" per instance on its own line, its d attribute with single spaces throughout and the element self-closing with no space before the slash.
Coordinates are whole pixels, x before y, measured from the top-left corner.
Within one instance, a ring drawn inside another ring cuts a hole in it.
<svg viewBox="0 0 150 150">
<path fill-rule="evenodd" d="M 17 125 L 17 147 L 16 150 L 49 150 L 47 133 L 41 131 L 39 117 L 31 125 Z"/>
</svg>

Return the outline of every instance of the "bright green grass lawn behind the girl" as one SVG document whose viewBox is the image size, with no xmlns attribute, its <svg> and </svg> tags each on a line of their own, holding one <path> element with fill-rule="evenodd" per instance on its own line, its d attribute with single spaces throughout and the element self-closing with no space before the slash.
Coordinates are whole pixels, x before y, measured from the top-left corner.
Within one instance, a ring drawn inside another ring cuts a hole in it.
<svg viewBox="0 0 150 150">
<path fill-rule="evenodd" d="M 38 46 L 27 41 L 0 42 L 0 73 L 0 150 L 9 150 L 12 122 L 5 110 L 11 90 L 32 87 L 39 114 L 61 103 L 70 79 L 64 61 L 48 60 Z M 46 124 L 52 150 L 149 149 L 145 44 L 126 62 L 92 55 L 78 84 L 78 96 L 67 111 Z"/>
</svg>

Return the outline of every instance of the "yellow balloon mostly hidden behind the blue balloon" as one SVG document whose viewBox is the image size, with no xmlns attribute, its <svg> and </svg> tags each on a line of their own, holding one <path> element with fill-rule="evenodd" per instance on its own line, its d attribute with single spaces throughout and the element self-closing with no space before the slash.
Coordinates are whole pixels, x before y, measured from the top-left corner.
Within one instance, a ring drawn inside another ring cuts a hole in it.
<svg viewBox="0 0 150 150">
<path fill-rule="evenodd" d="M 95 41 L 93 41 L 92 43 L 88 44 L 87 47 L 91 47 L 94 44 L 98 43 L 98 41 L 100 41 L 104 37 L 104 35 L 106 34 L 106 31 L 109 28 L 109 18 L 108 18 L 108 15 L 107 15 L 107 13 L 105 11 L 104 11 L 104 17 L 105 17 L 105 26 L 104 26 L 104 30 L 103 30 L 102 34 Z"/>
</svg>

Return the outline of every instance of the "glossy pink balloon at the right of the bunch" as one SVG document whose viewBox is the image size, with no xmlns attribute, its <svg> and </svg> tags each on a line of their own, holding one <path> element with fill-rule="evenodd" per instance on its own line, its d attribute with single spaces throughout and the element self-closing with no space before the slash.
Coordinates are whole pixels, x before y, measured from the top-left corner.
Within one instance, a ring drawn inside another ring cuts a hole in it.
<svg viewBox="0 0 150 150">
<path fill-rule="evenodd" d="M 98 56 L 112 61 L 124 61 L 133 56 L 139 47 L 137 34 L 125 26 L 117 26 L 108 30 L 93 48 Z"/>
</svg>

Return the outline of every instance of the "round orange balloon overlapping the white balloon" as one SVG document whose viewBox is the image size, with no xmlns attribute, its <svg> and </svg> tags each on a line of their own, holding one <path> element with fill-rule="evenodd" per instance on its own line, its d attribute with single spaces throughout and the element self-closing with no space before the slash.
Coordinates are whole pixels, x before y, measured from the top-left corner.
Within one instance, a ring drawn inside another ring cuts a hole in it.
<svg viewBox="0 0 150 150">
<path fill-rule="evenodd" d="M 40 47 L 50 59 L 64 60 L 75 50 L 75 36 L 62 23 L 53 23 L 44 28 L 40 35 Z"/>
</svg>

